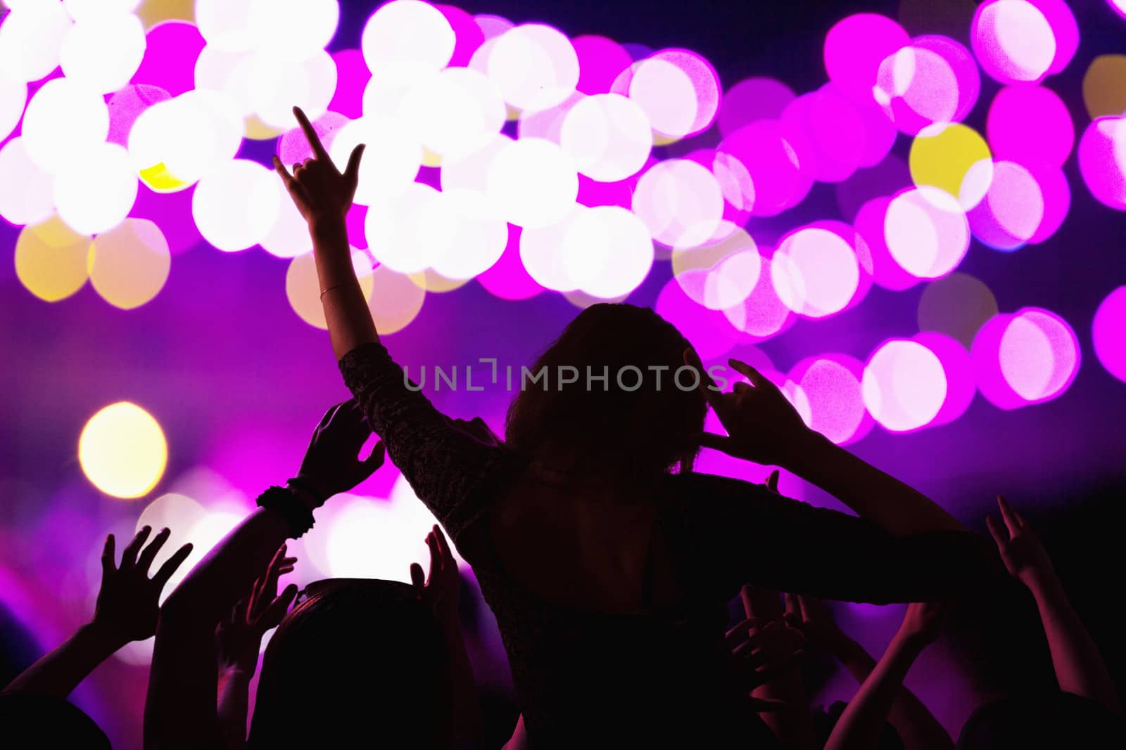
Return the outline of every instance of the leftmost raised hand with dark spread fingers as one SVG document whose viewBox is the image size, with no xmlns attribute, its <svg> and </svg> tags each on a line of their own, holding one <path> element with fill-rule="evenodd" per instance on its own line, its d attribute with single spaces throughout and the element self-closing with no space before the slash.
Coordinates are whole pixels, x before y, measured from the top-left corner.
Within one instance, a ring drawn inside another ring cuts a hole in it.
<svg viewBox="0 0 1126 750">
<path fill-rule="evenodd" d="M 106 537 L 101 551 L 101 588 L 90 624 L 120 645 L 143 641 L 157 632 L 160 593 L 176 569 L 191 554 L 191 544 L 185 544 L 164 561 L 155 576 L 149 578 L 153 559 L 171 534 L 162 528 L 149 546 L 144 546 L 151 531 L 149 526 L 143 527 L 125 545 L 120 566 L 114 563 L 113 534 Z"/>
</svg>

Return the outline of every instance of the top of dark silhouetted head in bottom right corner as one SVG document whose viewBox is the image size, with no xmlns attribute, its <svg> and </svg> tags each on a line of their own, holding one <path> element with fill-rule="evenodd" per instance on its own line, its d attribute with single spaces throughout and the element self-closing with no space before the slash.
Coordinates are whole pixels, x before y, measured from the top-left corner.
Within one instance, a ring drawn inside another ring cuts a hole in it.
<svg viewBox="0 0 1126 750">
<path fill-rule="evenodd" d="M 958 735 L 958 750 L 1126 746 L 1120 716 L 1071 693 L 1012 695 L 981 706 Z"/>
</svg>

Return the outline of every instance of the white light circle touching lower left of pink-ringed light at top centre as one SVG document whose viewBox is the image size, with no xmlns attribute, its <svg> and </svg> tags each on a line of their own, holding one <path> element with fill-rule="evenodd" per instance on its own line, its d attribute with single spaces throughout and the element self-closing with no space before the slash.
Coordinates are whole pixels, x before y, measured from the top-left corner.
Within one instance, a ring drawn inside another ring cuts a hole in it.
<svg viewBox="0 0 1126 750">
<path fill-rule="evenodd" d="M 644 110 L 617 93 L 586 97 L 566 112 L 560 145 L 579 172 L 600 182 L 617 182 L 645 165 L 653 145 Z"/>
</svg>

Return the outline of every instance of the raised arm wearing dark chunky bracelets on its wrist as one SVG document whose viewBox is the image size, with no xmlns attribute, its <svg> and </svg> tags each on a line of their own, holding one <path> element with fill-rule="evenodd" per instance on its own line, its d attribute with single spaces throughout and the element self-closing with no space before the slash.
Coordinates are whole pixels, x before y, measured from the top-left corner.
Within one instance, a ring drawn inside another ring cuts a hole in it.
<svg viewBox="0 0 1126 750">
<path fill-rule="evenodd" d="M 351 489 L 383 462 L 377 446 L 358 453 L 370 431 L 359 408 L 329 409 L 289 490 L 271 489 L 188 573 L 161 608 L 145 701 L 145 748 L 209 748 L 221 742 L 216 716 L 215 629 L 286 539 L 301 536 L 313 509 Z"/>
</svg>

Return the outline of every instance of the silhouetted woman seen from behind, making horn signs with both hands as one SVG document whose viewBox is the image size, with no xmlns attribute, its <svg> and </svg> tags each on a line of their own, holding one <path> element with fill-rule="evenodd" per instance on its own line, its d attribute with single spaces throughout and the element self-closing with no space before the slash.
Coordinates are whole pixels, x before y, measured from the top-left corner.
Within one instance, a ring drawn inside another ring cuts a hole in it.
<svg viewBox="0 0 1126 750">
<path fill-rule="evenodd" d="M 352 270 L 345 215 L 363 146 L 341 173 L 295 114 L 315 157 L 292 174 L 275 166 L 310 226 L 345 382 L 473 566 L 503 635 L 530 747 L 706 747 L 739 731 L 751 739 L 757 725 L 729 689 L 722 640 L 725 604 L 744 582 L 918 602 L 983 578 L 981 540 L 808 431 L 751 368 L 733 364 L 751 380 L 734 392 L 707 380 L 677 387 L 678 368 L 700 364 L 647 309 L 595 305 L 575 317 L 533 369 L 548 367 L 549 387 L 530 386 L 512 403 L 507 444 L 480 421 L 439 414 L 379 344 Z M 557 365 L 577 368 L 578 381 L 557 381 Z M 588 368 L 609 378 L 588 389 Z M 644 376 L 635 389 L 634 369 Z M 689 374 L 681 382 L 691 383 Z M 730 437 L 701 437 L 708 405 Z M 701 443 L 784 467 L 861 517 L 691 473 Z"/>
</svg>

